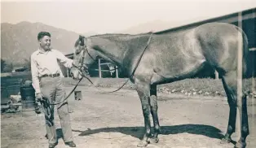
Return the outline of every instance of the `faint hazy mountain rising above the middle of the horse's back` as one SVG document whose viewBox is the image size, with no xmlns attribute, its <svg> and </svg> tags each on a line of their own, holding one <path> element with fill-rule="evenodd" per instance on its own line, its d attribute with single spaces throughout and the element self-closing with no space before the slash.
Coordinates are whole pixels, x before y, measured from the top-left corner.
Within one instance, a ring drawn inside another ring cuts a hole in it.
<svg viewBox="0 0 256 148">
<path fill-rule="evenodd" d="M 162 20 L 153 20 L 147 23 L 138 24 L 136 26 L 121 30 L 117 33 L 128 33 L 128 34 L 138 34 L 138 33 L 148 33 L 166 30 L 174 27 L 179 22 L 166 22 Z"/>
</svg>

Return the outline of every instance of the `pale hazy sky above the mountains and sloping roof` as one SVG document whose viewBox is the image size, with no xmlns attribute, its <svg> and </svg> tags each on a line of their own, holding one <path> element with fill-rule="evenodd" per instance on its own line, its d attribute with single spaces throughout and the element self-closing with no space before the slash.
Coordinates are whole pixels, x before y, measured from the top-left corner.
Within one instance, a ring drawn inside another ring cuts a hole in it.
<svg viewBox="0 0 256 148">
<path fill-rule="evenodd" d="M 153 20 L 182 25 L 254 7 L 256 0 L 2 0 L 1 22 L 41 22 L 77 33 L 113 33 Z"/>
</svg>

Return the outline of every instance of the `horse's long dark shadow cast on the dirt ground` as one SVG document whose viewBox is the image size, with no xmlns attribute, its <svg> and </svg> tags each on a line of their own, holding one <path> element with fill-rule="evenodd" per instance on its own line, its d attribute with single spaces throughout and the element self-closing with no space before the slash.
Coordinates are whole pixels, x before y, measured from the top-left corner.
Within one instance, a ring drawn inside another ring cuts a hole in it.
<svg viewBox="0 0 256 148">
<path fill-rule="evenodd" d="M 114 128 L 97 128 L 86 131 L 73 130 L 80 133 L 78 136 L 89 136 L 95 133 L 123 133 L 132 137 L 142 138 L 144 127 L 114 127 Z M 178 133 L 191 133 L 196 135 L 204 135 L 206 137 L 221 139 L 223 134 L 218 128 L 203 124 L 181 124 L 174 126 L 161 126 L 161 135 L 170 135 Z"/>
</svg>

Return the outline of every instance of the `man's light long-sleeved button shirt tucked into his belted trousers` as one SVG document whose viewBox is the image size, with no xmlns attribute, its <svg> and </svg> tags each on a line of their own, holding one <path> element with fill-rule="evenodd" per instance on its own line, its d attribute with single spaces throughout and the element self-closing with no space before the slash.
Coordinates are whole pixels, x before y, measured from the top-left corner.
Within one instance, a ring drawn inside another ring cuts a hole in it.
<svg viewBox="0 0 256 148">
<path fill-rule="evenodd" d="M 43 75 L 52 75 L 60 73 L 63 77 L 63 73 L 60 69 L 60 64 L 64 67 L 72 67 L 73 59 L 68 59 L 59 50 L 37 50 L 31 54 L 31 72 L 33 88 L 36 94 L 41 93 L 39 78 Z"/>
</svg>

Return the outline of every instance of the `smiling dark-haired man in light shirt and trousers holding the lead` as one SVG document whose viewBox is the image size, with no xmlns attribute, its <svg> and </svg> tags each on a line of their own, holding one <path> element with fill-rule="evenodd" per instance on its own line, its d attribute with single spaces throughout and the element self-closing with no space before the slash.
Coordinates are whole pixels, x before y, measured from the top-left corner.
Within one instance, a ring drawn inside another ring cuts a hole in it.
<svg viewBox="0 0 256 148">
<path fill-rule="evenodd" d="M 36 98 L 44 104 L 46 119 L 46 133 L 49 147 L 58 144 L 54 124 L 54 107 L 57 107 L 60 117 L 60 124 L 64 136 L 65 145 L 76 147 L 73 142 L 73 133 L 68 114 L 68 102 L 64 101 L 65 90 L 62 82 L 63 74 L 60 64 L 65 67 L 72 67 L 73 60 L 68 59 L 58 50 L 51 49 L 51 34 L 47 32 L 38 33 L 39 49 L 31 55 L 31 72 L 33 88 L 36 91 Z M 51 103 L 62 102 L 56 106 Z"/>
</svg>

